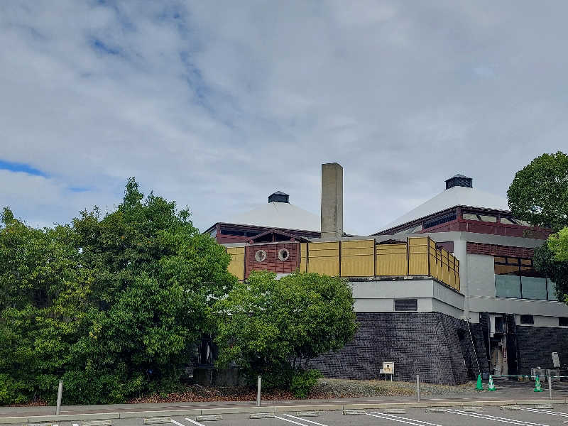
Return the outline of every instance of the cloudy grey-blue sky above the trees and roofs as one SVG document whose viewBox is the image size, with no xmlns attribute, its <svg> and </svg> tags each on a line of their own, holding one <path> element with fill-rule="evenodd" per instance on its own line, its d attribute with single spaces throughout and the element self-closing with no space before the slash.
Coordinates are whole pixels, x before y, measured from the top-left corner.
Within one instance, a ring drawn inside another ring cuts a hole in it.
<svg viewBox="0 0 568 426">
<path fill-rule="evenodd" d="M 276 190 L 371 234 L 456 173 L 506 196 L 568 151 L 568 2 L 0 2 L 0 207 L 33 226 L 126 180 L 202 230 Z M 564 53 L 563 53 L 564 52 Z"/>
</svg>

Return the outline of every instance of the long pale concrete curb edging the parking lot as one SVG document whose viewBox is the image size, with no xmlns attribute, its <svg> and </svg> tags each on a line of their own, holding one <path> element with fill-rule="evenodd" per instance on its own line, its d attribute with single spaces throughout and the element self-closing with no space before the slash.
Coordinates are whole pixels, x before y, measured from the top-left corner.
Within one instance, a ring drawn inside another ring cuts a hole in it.
<svg viewBox="0 0 568 426">
<path fill-rule="evenodd" d="M 35 415 L 26 417 L 0 417 L 1 425 L 36 422 L 61 422 L 75 420 L 109 420 L 131 419 L 140 417 L 174 417 L 183 415 L 208 414 L 250 414 L 250 413 L 283 413 L 287 411 L 340 411 L 340 410 L 368 410 L 381 408 L 432 408 L 432 407 L 459 407 L 483 405 L 537 405 L 537 404 L 567 404 L 565 399 L 540 400 L 491 400 L 491 401 L 432 401 L 424 403 L 376 403 L 376 404 L 323 404 L 323 405 L 265 405 L 262 407 L 232 407 L 232 408 L 195 408 L 191 410 L 152 410 L 152 411 L 126 411 L 121 413 L 84 413 L 63 415 Z"/>
</svg>

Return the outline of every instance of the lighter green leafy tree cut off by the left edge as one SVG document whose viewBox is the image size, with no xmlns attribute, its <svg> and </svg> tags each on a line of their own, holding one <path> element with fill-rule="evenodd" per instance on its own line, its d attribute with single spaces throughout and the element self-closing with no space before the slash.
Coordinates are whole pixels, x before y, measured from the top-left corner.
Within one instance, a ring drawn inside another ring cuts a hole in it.
<svg viewBox="0 0 568 426">
<path fill-rule="evenodd" d="M 0 228 L 0 403 L 55 395 L 89 328 L 92 271 L 70 226 L 33 229 L 4 209 Z"/>
</svg>

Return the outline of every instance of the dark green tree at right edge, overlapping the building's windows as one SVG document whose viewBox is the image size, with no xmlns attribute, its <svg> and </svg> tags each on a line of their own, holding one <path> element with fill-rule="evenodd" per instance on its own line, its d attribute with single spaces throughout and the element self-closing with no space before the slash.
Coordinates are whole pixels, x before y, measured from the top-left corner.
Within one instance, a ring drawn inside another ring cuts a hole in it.
<svg viewBox="0 0 568 426">
<path fill-rule="evenodd" d="M 559 300 L 568 303 L 568 155 L 535 158 L 516 173 L 507 195 L 515 217 L 557 233 L 535 250 L 534 263 L 555 282 Z"/>
</svg>

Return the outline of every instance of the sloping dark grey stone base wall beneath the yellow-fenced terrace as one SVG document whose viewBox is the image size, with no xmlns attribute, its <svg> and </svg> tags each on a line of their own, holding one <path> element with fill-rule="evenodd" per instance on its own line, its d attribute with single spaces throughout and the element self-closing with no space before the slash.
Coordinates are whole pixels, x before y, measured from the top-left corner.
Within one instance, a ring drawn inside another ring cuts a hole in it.
<svg viewBox="0 0 568 426">
<path fill-rule="evenodd" d="M 395 380 L 413 381 L 419 373 L 426 383 L 447 384 L 488 371 L 479 324 L 471 324 L 470 336 L 467 322 L 439 312 L 359 312 L 357 322 L 353 342 L 310 367 L 329 378 L 376 379 L 383 361 L 394 361 Z"/>
</svg>

